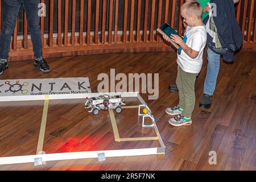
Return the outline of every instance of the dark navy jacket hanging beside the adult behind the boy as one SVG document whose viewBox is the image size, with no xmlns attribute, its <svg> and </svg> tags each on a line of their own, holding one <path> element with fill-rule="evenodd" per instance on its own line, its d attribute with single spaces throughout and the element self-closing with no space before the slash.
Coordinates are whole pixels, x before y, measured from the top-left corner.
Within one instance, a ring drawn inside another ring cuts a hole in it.
<svg viewBox="0 0 256 182">
<path fill-rule="evenodd" d="M 212 51 L 223 55 L 224 61 L 232 62 L 234 52 L 241 48 L 243 37 L 237 23 L 233 0 L 211 0 L 210 3 L 216 4 L 216 15 L 213 16 L 217 27 L 218 38 L 222 48 L 216 48 L 212 42 L 212 37 L 207 35 L 207 46 Z M 206 23 L 208 18 L 205 18 Z"/>
</svg>

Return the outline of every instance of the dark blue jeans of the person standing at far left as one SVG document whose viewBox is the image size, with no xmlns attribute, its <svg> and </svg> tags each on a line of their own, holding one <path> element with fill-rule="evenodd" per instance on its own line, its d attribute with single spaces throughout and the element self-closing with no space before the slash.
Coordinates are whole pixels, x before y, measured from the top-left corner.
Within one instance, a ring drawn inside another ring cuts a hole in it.
<svg viewBox="0 0 256 182">
<path fill-rule="evenodd" d="M 0 36 L 0 58 L 8 59 L 11 37 L 16 24 L 20 7 L 24 5 L 27 16 L 28 30 L 30 30 L 35 58 L 42 57 L 42 38 L 40 31 L 40 17 L 38 7 L 40 0 L 3 0 L 3 26 Z"/>
</svg>

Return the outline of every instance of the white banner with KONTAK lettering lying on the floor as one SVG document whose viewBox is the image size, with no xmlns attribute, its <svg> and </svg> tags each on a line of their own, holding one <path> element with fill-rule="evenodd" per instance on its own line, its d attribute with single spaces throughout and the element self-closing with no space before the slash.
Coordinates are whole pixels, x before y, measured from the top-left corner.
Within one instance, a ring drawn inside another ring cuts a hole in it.
<svg viewBox="0 0 256 182">
<path fill-rule="evenodd" d="M 91 93 L 88 77 L 0 80 L 0 97 Z"/>
</svg>

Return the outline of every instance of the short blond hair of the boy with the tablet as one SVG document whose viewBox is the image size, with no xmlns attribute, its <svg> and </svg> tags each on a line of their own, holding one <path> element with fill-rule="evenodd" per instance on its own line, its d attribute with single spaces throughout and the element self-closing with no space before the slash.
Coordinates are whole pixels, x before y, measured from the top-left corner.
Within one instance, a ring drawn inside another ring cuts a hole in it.
<svg viewBox="0 0 256 182">
<path fill-rule="evenodd" d="M 196 15 L 197 18 L 200 18 L 200 19 L 202 18 L 203 7 L 200 5 L 199 2 L 195 0 L 187 1 L 181 6 L 181 9 L 183 10 L 185 9 L 186 14 L 188 16 Z"/>
</svg>

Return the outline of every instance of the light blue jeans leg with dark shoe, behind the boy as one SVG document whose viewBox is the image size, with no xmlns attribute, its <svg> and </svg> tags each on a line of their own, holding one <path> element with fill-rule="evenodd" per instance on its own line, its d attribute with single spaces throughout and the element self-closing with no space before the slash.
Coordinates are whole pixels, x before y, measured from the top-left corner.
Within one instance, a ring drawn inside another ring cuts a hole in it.
<svg viewBox="0 0 256 182">
<path fill-rule="evenodd" d="M 202 109 L 209 109 L 212 105 L 212 96 L 216 88 L 218 72 L 220 71 L 220 55 L 213 52 L 210 48 L 207 49 L 207 54 L 207 75 L 204 81 L 203 98 L 199 105 Z"/>
</svg>

